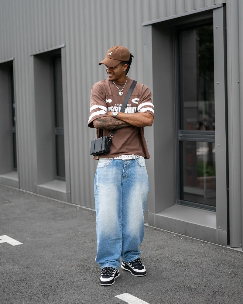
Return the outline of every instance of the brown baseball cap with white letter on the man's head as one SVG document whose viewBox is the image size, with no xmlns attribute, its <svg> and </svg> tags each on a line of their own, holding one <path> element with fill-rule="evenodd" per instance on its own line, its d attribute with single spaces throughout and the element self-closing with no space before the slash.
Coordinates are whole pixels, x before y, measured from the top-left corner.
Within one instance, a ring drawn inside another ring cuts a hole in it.
<svg viewBox="0 0 243 304">
<path fill-rule="evenodd" d="M 102 63 L 107 65 L 108 67 L 115 67 L 121 61 L 129 61 L 130 52 L 126 47 L 121 47 L 120 45 L 116 45 L 115 47 L 111 47 L 107 53 L 104 60 L 102 60 L 99 65 Z"/>
</svg>

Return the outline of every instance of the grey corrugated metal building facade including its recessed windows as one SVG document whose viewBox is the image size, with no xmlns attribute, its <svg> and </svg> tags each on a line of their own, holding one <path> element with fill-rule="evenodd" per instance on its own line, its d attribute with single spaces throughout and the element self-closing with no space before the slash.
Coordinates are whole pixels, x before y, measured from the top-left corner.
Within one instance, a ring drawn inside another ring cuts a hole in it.
<svg viewBox="0 0 243 304">
<path fill-rule="evenodd" d="M 113 45 L 149 86 L 151 226 L 243 241 L 241 0 L 0 0 L 0 183 L 94 209 L 87 128 Z"/>
</svg>

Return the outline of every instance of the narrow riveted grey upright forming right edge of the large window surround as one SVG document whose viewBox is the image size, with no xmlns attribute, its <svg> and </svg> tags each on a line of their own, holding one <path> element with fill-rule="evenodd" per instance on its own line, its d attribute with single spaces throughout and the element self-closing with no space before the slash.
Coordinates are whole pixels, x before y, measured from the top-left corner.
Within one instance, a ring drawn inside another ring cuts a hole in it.
<svg viewBox="0 0 243 304">
<path fill-rule="evenodd" d="M 227 231 L 226 20 L 224 7 L 214 9 L 214 99 L 217 228 Z M 222 165 L 225 164 L 225 165 Z M 220 227 L 220 228 L 219 228 Z"/>
</svg>

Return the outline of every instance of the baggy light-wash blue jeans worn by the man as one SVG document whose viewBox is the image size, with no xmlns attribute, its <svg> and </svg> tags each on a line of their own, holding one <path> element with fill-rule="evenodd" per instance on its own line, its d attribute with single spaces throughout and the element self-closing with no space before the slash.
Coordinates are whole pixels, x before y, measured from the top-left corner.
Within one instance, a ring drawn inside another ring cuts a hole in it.
<svg viewBox="0 0 243 304">
<path fill-rule="evenodd" d="M 97 257 L 101 268 L 134 261 L 144 236 L 149 181 L 144 157 L 99 160 L 95 179 Z"/>
</svg>

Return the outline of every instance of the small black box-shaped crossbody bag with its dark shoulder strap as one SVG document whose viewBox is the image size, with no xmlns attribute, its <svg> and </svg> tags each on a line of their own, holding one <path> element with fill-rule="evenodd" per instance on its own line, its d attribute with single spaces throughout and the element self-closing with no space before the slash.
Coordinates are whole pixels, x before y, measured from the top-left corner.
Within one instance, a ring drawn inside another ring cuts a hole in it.
<svg viewBox="0 0 243 304">
<path fill-rule="evenodd" d="M 132 85 L 130 86 L 128 93 L 124 99 L 124 102 L 122 104 L 120 112 L 124 112 L 126 109 L 126 106 L 128 104 L 128 100 L 132 95 L 132 92 L 137 84 L 137 81 L 133 81 Z M 102 155 L 109 153 L 111 151 L 111 138 L 115 134 L 116 130 L 113 130 L 111 132 L 111 136 L 103 136 L 97 139 L 94 139 L 91 141 L 91 147 L 90 147 L 90 154 L 94 156 Z"/>
</svg>

